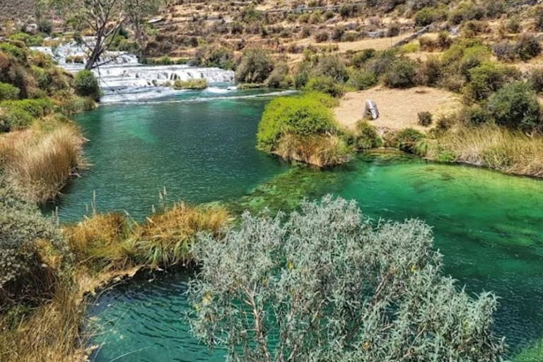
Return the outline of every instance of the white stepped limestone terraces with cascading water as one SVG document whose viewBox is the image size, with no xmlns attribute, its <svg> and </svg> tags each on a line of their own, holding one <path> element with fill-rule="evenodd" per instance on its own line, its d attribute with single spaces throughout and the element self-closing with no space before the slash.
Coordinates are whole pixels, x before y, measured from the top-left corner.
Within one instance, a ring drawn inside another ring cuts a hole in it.
<svg viewBox="0 0 543 362">
<path fill-rule="evenodd" d="M 81 45 L 69 42 L 58 47 L 33 47 L 45 52 L 67 71 L 76 73 L 83 69 L 83 64 L 66 63 L 70 57 L 86 59 Z M 208 83 L 233 83 L 234 72 L 219 68 L 194 67 L 187 65 L 144 65 L 139 64 L 134 54 L 126 52 L 107 52 L 100 59 L 97 69 L 93 72 L 100 79 L 103 90 L 103 103 L 126 102 L 130 100 L 145 100 L 159 98 L 165 95 L 179 93 L 164 86 L 167 82 L 176 80 L 204 78 Z"/>
</svg>

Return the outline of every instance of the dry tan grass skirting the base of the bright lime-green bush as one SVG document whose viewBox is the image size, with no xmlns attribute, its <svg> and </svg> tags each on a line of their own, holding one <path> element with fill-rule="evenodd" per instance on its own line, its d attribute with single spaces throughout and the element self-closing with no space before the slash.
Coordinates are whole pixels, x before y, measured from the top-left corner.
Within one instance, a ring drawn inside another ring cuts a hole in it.
<svg viewBox="0 0 543 362">
<path fill-rule="evenodd" d="M 322 136 L 284 134 L 274 153 L 286 160 L 297 160 L 319 167 L 339 165 L 351 158 L 349 146 L 339 136 L 332 134 Z"/>
</svg>

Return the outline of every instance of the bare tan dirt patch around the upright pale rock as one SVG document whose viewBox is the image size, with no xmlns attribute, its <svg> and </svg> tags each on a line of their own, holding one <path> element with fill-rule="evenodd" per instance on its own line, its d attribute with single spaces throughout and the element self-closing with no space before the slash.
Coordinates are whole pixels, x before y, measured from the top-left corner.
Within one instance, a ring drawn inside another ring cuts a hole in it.
<svg viewBox="0 0 543 362">
<path fill-rule="evenodd" d="M 339 106 L 334 108 L 337 122 L 347 129 L 355 129 L 356 122 L 363 118 L 367 99 L 377 104 L 379 118 L 370 121 L 370 124 L 380 130 L 412 127 L 427 131 L 428 128 L 417 124 L 419 112 L 431 112 L 435 121 L 440 115 L 452 112 L 460 106 L 457 95 L 436 88 L 389 89 L 379 86 L 344 95 Z"/>
</svg>

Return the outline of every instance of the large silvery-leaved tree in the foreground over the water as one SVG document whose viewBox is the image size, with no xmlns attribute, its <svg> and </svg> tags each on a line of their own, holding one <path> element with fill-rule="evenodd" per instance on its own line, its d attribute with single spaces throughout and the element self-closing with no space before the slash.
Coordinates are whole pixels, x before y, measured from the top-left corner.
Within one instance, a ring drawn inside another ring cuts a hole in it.
<svg viewBox="0 0 543 362">
<path fill-rule="evenodd" d="M 227 361 L 501 361 L 496 297 L 441 276 L 432 243 L 421 221 L 373 225 L 331 197 L 286 222 L 245 214 L 195 244 L 192 331 Z"/>
</svg>

